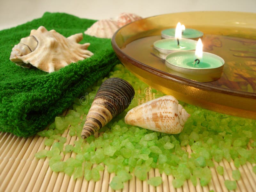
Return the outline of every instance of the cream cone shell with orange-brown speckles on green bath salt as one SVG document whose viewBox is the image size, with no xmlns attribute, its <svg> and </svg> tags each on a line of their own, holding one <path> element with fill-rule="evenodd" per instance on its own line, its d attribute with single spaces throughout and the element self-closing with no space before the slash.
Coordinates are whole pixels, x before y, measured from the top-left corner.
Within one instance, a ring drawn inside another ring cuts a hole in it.
<svg viewBox="0 0 256 192">
<path fill-rule="evenodd" d="M 126 124 L 177 134 L 182 131 L 189 116 L 175 97 L 166 95 L 132 108 L 124 120 Z"/>
</svg>

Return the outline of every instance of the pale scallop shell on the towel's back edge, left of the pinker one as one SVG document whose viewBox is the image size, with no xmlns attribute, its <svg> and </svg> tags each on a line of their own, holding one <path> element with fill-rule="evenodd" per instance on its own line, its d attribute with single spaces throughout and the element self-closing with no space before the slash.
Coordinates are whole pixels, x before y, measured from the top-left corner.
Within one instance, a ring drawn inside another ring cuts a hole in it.
<svg viewBox="0 0 256 192">
<path fill-rule="evenodd" d="M 100 38 L 112 38 L 118 28 L 114 20 L 99 20 L 88 28 L 84 34 Z"/>
</svg>

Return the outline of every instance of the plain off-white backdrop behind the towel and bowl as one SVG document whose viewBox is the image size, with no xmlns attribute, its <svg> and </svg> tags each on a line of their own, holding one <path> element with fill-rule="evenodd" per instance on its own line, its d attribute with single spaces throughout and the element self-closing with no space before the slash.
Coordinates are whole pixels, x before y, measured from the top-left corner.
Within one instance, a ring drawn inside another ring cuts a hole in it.
<svg viewBox="0 0 256 192">
<path fill-rule="evenodd" d="M 0 0 L 0 30 L 40 18 L 47 11 L 95 20 L 122 12 L 142 17 L 188 11 L 256 12 L 256 0 Z"/>
</svg>

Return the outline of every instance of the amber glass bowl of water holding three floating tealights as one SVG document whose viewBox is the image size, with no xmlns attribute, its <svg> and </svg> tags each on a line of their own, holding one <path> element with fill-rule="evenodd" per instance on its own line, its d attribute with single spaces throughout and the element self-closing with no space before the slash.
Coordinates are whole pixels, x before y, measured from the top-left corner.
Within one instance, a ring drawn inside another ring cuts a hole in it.
<svg viewBox="0 0 256 192">
<path fill-rule="evenodd" d="M 120 61 L 153 88 L 178 100 L 229 115 L 256 119 L 256 14 L 182 12 L 153 16 L 120 28 L 112 46 Z M 213 82 L 197 82 L 168 73 L 153 43 L 178 22 L 204 33 L 204 51 L 225 60 Z"/>
</svg>

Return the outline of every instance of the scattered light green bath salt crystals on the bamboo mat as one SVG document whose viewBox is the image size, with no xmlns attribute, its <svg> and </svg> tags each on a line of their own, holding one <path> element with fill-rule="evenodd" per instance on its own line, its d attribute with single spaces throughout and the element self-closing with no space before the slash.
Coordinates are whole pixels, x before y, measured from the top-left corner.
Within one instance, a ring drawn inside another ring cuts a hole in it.
<svg viewBox="0 0 256 192">
<path fill-rule="evenodd" d="M 110 77 L 128 81 L 136 88 L 135 96 L 124 112 L 100 129 L 99 136 L 92 135 L 83 140 L 80 135 L 90 109 L 90 97 L 95 96 L 102 82 Z M 147 180 L 149 185 L 161 185 L 161 177 L 148 178 L 152 168 L 157 168 L 160 174 L 172 175 L 174 179 L 169 185 L 180 188 L 186 180 L 191 180 L 194 186 L 208 185 L 212 180 L 210 168 L 224 159 L 234 161 L 236 168 L 246 162 L 256 163 L 255 120 L 228 116 L 179 101 L 190 114 L 180 134 L 154 132 L 125 124 L 126 113 L 147 96 L 145 89 L 151 88 L 123 65 L 116 65 L 107 77 L 95 82 L 74 100 L 66 116 L 57 116 L 49 129 L 38 132 L 41 137 L 46 137 L 44 144 L 52 147 L 37 152 L 36 158 L 49 158 L 52 171 L 73 175 L 74 179 L 98 181 L 100 173 L 107 167 L 104 171 L 115 173 L 109 184 L 114 190 L 124 188 L 124 183 L 131 180 L 133 174 L 139 180 Z M 151 93 L 152 99 L 164 96 L 157 90 Z M 66 158 L 62 157 L 71 153 L 74 157 L 64 161 Z M 217 174 L 223 175 L 225 168 L 218 165 L 216 170 Z M 256 172 L 255 166 L 252 171 Z M 241 179 L 238 170 L 232 172 L 232 179 Z M 225 186 L 229 190 L 235 189 L 236 181 L 226 180 Z"/>
</svg>

